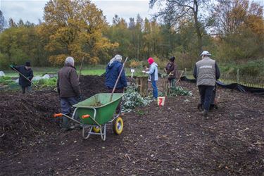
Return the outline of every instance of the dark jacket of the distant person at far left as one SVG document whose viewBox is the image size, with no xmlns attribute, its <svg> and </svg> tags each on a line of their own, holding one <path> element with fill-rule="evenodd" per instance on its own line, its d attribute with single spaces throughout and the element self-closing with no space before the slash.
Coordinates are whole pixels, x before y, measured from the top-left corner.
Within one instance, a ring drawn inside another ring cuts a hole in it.
<svg viewBox="0 0 264 176">
<path fill-rule="evenodd" d="M 15 68 L 15 70 L 18 70 L 25 77 L 27 77 L 28 80 L 30 81 L 32 80 L 34 75 L 33 75 L 33 71 L 31 68 L 27 70 L 24 65 L 14 66 L 13 68 Z M 19 74 L 18 84 L 20 84 L 21 87 L 31 86 L 31 82 L 25 79 L 25 77 L 23 77 L 22 75 Z"/>
</svg>

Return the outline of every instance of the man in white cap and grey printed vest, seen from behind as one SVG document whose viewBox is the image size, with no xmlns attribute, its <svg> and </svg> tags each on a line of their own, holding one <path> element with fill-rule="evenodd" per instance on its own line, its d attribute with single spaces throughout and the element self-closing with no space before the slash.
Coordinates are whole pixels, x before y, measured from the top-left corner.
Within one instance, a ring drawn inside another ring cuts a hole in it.
<svg viewBox="0 0 264 176">
<path fill-rule="evenodd" d="M 194 67 L 194 77 L 203 107 L 202 114 L 206 117 L 210 108 L 210 102 L 213 98 L 215 82 L 220 77 L 220 70 L 215 60 L 210 58 L 211 54 L 208 51 L 203 51 L 200 56 L 201 61 L 196 62 Z"/>
</svg>

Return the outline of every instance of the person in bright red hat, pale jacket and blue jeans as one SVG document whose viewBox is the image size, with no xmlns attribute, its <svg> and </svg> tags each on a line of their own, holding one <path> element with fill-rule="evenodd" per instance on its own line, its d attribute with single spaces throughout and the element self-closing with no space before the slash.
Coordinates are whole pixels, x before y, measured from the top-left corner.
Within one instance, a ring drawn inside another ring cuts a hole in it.
<svg viewBox="0 0 264 176">
<path fill-rule="evenodd" d="M 153 58 L 148 59 L 149 71 L 143 71 L 143 73 L 149 74 L 151 76 L 151 85 L 153 88 L 153 98 L 158 98 L 158 87 L 156 82 L 158 81 L 158 64 L 154 62 Z"/>
</svg>

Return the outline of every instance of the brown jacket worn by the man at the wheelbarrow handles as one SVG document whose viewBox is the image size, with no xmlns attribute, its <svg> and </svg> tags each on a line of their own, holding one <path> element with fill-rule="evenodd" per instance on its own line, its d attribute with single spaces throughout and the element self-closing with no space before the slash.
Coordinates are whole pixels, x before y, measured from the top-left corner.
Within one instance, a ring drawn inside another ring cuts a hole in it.
<svg viewBox="0 0 264 176">
<path fill-rule="evenodd" d="M 76 69 L 72 65 L 65 64 L 65 66 L 59 70 L 57 88 L 61 98 L 80 96 L 78 75 Z"/>
</svg>

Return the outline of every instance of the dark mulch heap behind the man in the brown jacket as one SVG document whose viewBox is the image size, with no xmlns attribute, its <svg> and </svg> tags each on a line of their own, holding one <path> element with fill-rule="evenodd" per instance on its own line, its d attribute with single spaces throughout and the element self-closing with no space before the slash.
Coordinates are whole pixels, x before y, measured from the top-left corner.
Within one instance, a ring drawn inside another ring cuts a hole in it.
<svg viewBox="0 0 264 176">
<path fill-rule="evenodd" d="M 84 99 L 107 92 L 104 78 L 80 78 Z M 34 137 L 41 138 L 58 131 L 58 121 L 53 117 L 60 112 L 58 94 L 54 90 L 36 91 L 32 94 L 0 94 L 0 150 L 35 145 Z"/>
</svg>

